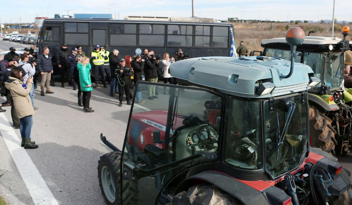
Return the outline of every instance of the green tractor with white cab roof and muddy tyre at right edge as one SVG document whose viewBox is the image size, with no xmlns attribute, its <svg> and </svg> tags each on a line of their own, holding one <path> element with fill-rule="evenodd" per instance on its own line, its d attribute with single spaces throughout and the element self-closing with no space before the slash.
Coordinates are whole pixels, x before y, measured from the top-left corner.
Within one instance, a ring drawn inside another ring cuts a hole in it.
<svg viewBox="0 0 352 205">
<path fill-rule="evenodd" d="M 297 63 L 309 65 L 321 83 L 308 90 L 310 143 L 333 155 L 350 152 L 352 89 L 344 88 L 345 51 L 352 50 L 346 40 L 350 28 L 342 29 L 343 39 L 311 36 L 297 46 Z M 263 56 L 290 59 L 290 45 L 285 38 L 263 39 Z M 253 55 L 252 51 L 251 54 Z M 261 55 L 261 54 L 259 54 Z"/>
</svg>

